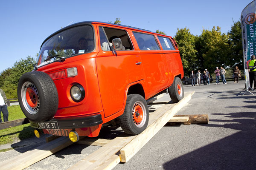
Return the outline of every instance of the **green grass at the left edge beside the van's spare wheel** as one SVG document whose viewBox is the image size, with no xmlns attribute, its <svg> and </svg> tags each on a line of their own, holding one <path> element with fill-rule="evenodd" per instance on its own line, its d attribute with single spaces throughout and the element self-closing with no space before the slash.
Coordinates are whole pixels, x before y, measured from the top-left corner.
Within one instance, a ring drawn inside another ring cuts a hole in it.
<svg viewBox="0 0 256 170">
<path fill-rule="evenodd" d="M 25 115 L 21 111 L 19 105 L 9 106 L 8 111 L 9 121 L 25 118 Z M 32 136 L 34 136 L 34 128 L 31 127 L 30 124 L 10 127 L 0 130 L 0 145 L 12 143 L 16 140 L 28 139 Z"/>
</svg>

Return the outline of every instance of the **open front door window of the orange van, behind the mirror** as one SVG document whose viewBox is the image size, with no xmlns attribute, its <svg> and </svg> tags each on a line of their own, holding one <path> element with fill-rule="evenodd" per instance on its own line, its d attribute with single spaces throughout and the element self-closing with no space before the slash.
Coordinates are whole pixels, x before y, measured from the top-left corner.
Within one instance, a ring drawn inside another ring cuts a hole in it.
<svg viewBox="0 0 256 170">
<path fill-rule="evenodd" d="M 122 40 L 122 50 L 134 49 L 131 44 L 130 37 L 125 30 L 109 27 L 99 27 L 99 34 L 100 44 L 103 51 L 112 51 L 112 40 L 115 38 L 120 38 Z M 111 47 L 109 47 L 108 42 Z"/>
</svg>

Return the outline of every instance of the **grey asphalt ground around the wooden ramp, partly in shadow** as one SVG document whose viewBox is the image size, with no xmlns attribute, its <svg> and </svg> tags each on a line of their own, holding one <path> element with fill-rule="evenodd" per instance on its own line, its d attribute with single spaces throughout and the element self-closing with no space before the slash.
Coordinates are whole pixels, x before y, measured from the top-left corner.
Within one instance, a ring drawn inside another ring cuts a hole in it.
<svg viewBox="0 0 256 170">
<path fill-rule="evenodd" d="M 253 96 L 243 89 L 244 81 L 185 85 L 185 92 L 195 94 L 177 114 L 208 114 L 209 124 L 167 124 L 127 163 L 113 170 L 255 170 L 256 91 Z M 158 102 L 169 100 L 165 94 Z M 107 128 L 100 137 L 111 139 L 120 133 L 120 129 Z M 32 138 L 11 144 L 15 149 L 0 153 L 0 162 L 43 143 L 44 138 Z M 64 170 L 98 148 L 73 144 L 26 170 Z"/>
</svg>

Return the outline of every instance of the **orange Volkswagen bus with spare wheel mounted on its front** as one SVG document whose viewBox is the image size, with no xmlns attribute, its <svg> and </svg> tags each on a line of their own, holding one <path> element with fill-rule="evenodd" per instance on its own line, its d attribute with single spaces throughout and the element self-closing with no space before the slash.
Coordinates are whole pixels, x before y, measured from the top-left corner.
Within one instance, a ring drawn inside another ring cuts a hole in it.
<svg viewBox="0 0 256 170">
<path fill-rule="evenodd" d="M 168 92 L 183 98 L 183 67 L 172 37 L 129 26 L 76 23 L 41 45 L 35 69 L 18 83 L 20 107 L 44 133 L 99 135 L 102 124 L 119 119 L 128 134 L 148 125 L 147 99 Z"/>
</svg>

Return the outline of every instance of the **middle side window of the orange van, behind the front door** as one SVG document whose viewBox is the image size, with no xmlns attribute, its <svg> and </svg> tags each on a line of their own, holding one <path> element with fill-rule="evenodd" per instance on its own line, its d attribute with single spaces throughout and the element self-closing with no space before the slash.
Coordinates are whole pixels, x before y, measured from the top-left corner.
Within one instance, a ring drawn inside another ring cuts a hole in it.
<svg viewBox="0 0 256 170">
<path fill-rule="evenodd" d="M 140 50 L 160 50 L 154 35 L 133 32 Z"/>
</svg>

